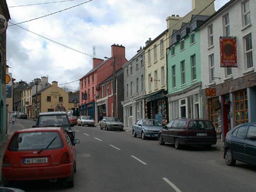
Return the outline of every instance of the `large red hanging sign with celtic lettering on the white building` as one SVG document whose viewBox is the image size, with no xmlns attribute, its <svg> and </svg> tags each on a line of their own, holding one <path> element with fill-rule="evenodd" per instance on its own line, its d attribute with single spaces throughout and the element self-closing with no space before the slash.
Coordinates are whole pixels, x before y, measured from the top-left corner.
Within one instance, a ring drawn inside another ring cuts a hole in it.
<svg viewBox="0 0 256 192">
<path fill-rule="evenodd" d="M 220 37 L 221 67 L 237 67 L 236 37 Z"/>
</svg>

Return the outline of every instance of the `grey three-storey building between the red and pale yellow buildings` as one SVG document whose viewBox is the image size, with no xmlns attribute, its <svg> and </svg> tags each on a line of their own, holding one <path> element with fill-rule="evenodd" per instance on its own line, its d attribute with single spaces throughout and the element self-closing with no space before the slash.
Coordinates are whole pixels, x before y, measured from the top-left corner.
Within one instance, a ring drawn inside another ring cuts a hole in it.
<svg viewBox="0 0 256 192">
<path fill-rule="evenodd" d="M 140 47 L 137 54 L 123 66 L 124 69 L 124 126 L 131 127 L 139 118 L 145 118 L 145 50 Z"/>
</svg>

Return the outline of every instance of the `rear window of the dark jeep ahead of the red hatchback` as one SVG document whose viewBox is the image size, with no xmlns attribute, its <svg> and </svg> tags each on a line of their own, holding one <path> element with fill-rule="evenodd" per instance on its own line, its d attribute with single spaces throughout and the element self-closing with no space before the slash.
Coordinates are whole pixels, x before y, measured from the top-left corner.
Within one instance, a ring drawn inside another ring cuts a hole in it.
<svg viewBox="0 0 256 192">
<path fill-rule="evenodd" d="M 39 118 L 38 127 L 61 126 L 68 126 L 68 118 L 66 115 L 41 116 Z"/>
</svg>

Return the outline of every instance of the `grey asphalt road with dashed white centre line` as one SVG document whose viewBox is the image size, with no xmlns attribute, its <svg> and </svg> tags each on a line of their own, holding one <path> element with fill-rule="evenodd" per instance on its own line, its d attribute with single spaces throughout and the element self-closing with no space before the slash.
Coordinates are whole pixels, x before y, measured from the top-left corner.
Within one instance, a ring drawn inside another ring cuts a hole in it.
<svg viewBox="0 0 256 192">
<path fill-rule="evenodd" d="M 31 120 L 18 120 L 23 127 Z M 31 124 L 32 125 L 32 124 Z M 253 192 L 256 167 L 225 164 L 214 149 L 172 145 L 133 138 L 131 132 L 75 126 L 77 172 L 75 187 L 66 189 L 48 181 L 29 181 L 14 187 L 29 191 L 76 192 Z"/>
</svg>

